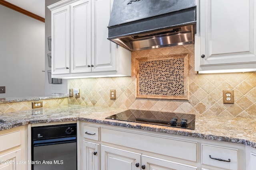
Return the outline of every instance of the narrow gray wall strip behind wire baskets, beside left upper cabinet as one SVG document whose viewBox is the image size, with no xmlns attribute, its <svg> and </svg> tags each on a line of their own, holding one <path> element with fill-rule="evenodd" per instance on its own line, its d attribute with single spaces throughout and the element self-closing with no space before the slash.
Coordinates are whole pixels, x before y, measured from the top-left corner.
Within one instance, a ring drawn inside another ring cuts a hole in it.
<svg viewBox="0 0 256 170">
<path fill-rule="evenodd" d="M 62 84 L 49 84 L 48 83 L 48 74 L 47 70 L 51 70 L 48 67 L 48 57 L 47 54 L 51 53 L 48 49 L 48 37 L 51 36 L 51 11 L 47 8 L 47 6 L 52 5 L 60 0 L 45 0 L 45 94 L 51 95 L 52 93 L 68 93 L 68 81 L 66 79 L 62 79 Z"/>
</svg>

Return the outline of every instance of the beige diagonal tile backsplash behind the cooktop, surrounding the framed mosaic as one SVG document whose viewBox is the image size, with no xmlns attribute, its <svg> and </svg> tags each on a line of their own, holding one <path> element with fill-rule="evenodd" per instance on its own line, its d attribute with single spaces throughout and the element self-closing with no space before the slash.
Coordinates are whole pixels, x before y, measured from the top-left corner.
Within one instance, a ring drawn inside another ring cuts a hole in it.
<svg viewBox="0 0 256 170">
<path fill-rule="evenodd" d="M 136 59 L 184 53 L 189 53 L 190 56 L 189 100 L 135 97 Z M 69 88 L 80 88 L 80 98 L 71 97 L 68 99 L 68 104 L 256 119 L 256 72 L 196 74 L 194 45 L 133 51 L 131 77 L 70 79 L 68 80 Z M 112 89 L 116 90 L 116 100 L 110 100 Z M 234 90 L 234 104 L 223 104 L 222 90 Z"/>
</svg>

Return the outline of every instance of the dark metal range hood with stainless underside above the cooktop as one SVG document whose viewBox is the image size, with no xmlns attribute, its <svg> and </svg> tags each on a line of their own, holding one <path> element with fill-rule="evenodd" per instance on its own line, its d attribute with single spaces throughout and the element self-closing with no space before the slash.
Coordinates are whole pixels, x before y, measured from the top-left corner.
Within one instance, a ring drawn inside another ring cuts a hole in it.
<svg viewBox="0 0 256 170">
<path fill-rule="evenodd" d="M 114 0 L 108 39 L 130 51 L 194 43 L 195 0 Z"/>
</svg>

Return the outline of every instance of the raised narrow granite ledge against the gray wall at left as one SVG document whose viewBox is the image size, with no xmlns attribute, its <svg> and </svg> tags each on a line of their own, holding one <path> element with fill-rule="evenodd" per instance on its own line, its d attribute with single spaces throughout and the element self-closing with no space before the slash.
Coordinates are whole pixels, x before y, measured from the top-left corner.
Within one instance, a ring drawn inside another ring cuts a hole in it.
<svg viewBox="0 0 256 170">
<path fill-rule="evenodd" d="M 20 98 L 0 98 L 0 104 L 2 103 L 12 103 L 12 102 L 26 102 L 34 100 L 46 100 L 46 99 L 58 99 L 67 98 L 68 94 L 52 94 L 51 96 L 28 96 Z"/>
</svg>

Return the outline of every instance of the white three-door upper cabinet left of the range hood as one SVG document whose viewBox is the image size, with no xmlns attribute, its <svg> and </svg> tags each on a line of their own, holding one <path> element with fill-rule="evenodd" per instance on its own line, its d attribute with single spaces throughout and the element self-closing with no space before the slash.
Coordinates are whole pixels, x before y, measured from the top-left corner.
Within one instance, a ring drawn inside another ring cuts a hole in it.
<svg viewBox="0 0 256 170">
<path fill-rule="evenodd" d="M 112 5 L 113 0 L 62 0 L 48 6 L 52 78 L 131 76 L 131 52 L 107 39 Z"/>
</svg>

